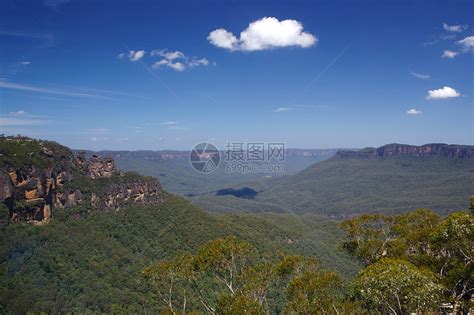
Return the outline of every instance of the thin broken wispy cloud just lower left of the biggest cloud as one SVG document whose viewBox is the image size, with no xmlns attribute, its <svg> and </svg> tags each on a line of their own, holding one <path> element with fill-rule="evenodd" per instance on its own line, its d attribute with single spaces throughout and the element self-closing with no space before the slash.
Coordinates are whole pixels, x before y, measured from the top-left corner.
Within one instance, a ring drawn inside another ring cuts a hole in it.
<svg viewBox="0 0 474 315">
<path fill-rule="evenodd" d="M 196 57 L 186 57 L 181 51 L 168 51 L 166 49 L 156 49 L 150 53 L 151 56 L 160 56 L 163 59 L 155 62 L 153 64 L 154 69 L 159 69 L 160 67 L 166 66 L 176 71 L 183 71 L 186 68 L 198 67 L 198 66 L 207 66 L 209 65 L 209 60 L 206 58 L 198 59 Z M 179 60 L 179 61 L 178 61 Z"/>
</svg>

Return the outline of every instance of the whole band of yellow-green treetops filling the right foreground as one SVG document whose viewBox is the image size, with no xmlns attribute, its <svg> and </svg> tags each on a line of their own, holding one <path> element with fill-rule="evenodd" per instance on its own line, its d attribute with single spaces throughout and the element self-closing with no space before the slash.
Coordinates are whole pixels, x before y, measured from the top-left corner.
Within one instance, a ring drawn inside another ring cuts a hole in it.
<svg viewBox="0 0 474 315">
<path fill-rule="evenodd" d="M 344 247 L 366 265 L 351 282 L 312 258 L 217 239 L 143 271 L 170 314 L 467 313 L 474 294 L 474 215 L 427 209 L 342 223 Z"/>
</svg>

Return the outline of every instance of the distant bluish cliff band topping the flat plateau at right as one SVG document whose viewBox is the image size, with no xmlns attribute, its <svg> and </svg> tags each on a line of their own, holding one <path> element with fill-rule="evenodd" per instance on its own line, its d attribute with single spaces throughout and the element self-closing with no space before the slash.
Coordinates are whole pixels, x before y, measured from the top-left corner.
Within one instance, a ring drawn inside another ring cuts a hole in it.
<svg viewBox="0 0 474 315">
<path fill-rule="evenodd" d="M 444 143 L 431 143 L 421 146 L 406 144 L 387 144 L 380 148 L 366 148 L 360 151 L 339 151 L 336 156 L 340 158 L 379 158 L 389 156 L 411 155 L 414 157 L 442 156 L 450 158 L 474 158 L 474 146 L 449 145 Z"/>
</svg>

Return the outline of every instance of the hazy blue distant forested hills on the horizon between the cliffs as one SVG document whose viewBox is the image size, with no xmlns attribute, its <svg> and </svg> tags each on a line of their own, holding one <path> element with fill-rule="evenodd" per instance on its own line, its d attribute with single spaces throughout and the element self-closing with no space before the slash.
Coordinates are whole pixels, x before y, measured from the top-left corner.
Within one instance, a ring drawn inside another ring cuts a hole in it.
<svg viewBox="0 0 474 315">
<path fill-rule="evenodd" d="M 190 196 L 216 191 L 226 185 L 237 185 L 243 182 L 295 174 L 308 166 L 329 159 L 337 149 L 286 149 L 286 158 L 281 164 L 281 173 L 227 173 L 221 163 L 212 173 L 199 173 L 189 162 L 190 151 L 85 151 L 87 156 L 93 154 L 110 156 L 118 168 L 154 176 L 163 187 L 173 193 Z M 74 150 L 80 152 L 80 150 Z M 221 152 L 224 159 L 225 151 Z"/>
</svg>

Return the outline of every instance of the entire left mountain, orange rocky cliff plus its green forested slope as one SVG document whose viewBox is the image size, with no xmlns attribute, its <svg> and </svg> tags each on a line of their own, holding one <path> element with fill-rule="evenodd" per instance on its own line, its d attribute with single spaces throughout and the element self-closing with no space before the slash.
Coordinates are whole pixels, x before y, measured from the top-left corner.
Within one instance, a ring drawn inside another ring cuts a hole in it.
<svg viewBox="0 0 474 315">
<path fill-rule="evenodd" d="M 230 235 L 262 253 L 316 257 L 345 277 L 360 268 L 335 221 L 209 214 L 155 178 L 54 142 L 2 137 L 0 153 L 2 313 L 153 313 L 160 302 L 143 268 Z"/>
</svg>

